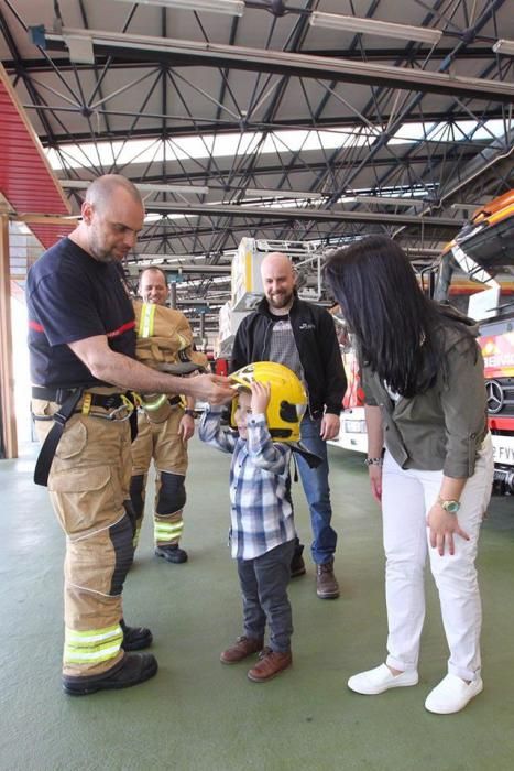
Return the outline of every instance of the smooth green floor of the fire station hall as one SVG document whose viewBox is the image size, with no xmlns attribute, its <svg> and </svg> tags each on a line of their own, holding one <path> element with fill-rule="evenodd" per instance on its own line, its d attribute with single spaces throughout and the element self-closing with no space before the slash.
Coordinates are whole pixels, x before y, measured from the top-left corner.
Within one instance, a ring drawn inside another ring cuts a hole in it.
<svg viewBox="0 0 514 771">
<path fill-rule="evenodd" d="M 430 715 L 447 658 L 429 582 L 417 687 L 348 691 L 349 675 L 384 659 L 380 514 L 361 457 L 331 452 L 337 574 L 342 595 L 319 600 L 314 569 L 295 579 L 293 669 L 266 684 L 218 656 L 240 633 L 234 564 L 226 546 L 228 457 L 192 443 L 186 565 L 152 554 L 145 522 L 124 590 L 129 623 L 147 625 L 157 676 L 87 697 L 61 691 L 64 536 L 46 490 L 32 484 L 35 446 L 0 463 L 0 769 L 2 771 L 464 771 L 514 767 L 514 499 L 493 499 L 479 566 L 485 689 L 464 712 Z M 309 540 L 295 486 L 296 519 Z"/>
</svg>

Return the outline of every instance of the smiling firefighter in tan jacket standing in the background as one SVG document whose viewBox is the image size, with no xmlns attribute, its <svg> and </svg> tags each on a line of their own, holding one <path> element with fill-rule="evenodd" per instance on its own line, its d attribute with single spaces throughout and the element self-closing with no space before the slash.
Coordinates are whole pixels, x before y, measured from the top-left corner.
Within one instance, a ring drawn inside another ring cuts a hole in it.
<svg viewBox="0 0 514 771">
<path fill-rule="evenodd" d="M 158 268 L 141 273 L 135 302 L 136 357 L 140 361 L 174 374 L 203 370 L 207 359 L 193 350 L 189 324 L 179 311 L 165 307 L 166 276 Z M 187 561 L 179 546 L 186 502 L 187 442 L 195 433 L 195 402 L 188 398 L 146 394 L 138 414 L 138 437 L 132 444 L 130 495 L 136 515 L 135 544 L 144 513 L 147 471 L 152 458 L 156 469 L 154 502 L 155 554 L 167 562 Z"/>
</svg>

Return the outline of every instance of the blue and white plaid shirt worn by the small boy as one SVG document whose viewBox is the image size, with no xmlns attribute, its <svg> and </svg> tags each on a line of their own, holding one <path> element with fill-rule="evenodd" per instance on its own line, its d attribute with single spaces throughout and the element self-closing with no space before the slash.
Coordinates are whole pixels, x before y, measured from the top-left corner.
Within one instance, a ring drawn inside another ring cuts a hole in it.
<svg viewBox="0 0 514 771">
<path fill-rule="evenodd" d="M 296 536 L 291 503 L 291 448 L 274 443 L 264 415 L 249 415 L 248 439 L 223 431 L 221 411 L 201 417 L 203 442 L 232 453 L 230 466 L 230 543 L 232 557 L 254 560 Z"/>
</svg>

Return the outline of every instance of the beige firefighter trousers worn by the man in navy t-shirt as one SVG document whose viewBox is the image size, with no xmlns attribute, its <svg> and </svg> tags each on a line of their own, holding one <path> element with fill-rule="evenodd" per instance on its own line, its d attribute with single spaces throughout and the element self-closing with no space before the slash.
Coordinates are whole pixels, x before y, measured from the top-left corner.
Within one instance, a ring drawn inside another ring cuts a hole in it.
<svg viewBox="0 0 514 771">
<path fill-rule="evenodd" d="M 118 389 L 102 389 L 113 393 Z M 99 389 L 96 389 L 99 392 Z M 80 406 L 80 403 L 79 403 Z M 40 442 L 58 405 L 32 401 Z M 108 414 L 95 408 L 98 415 Z M 132 523 L 125 513 L 130 484 L 129 421 L 74 414 L 66 423 L 48 476 L 48 492 L 66 534 L 63 672 L 106 672 L 123 655 L 121 591 L 132 564 Z"/>
</svg>

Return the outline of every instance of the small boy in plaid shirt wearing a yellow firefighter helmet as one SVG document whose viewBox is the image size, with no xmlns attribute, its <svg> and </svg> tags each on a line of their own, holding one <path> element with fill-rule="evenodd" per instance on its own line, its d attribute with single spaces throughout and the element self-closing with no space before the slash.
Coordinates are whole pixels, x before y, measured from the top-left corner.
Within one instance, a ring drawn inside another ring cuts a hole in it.
<svg viewBox="0 0 514 771">
<path fill-rule="evenodd" d="M 270 372 L 274 374 L 276 368 L 280 368 L 278 379 L 272 377 L 271 382 L 262 382 Z M 204 413 L 199 436 L 204 442 L 232 453 L 230 542 L 232 557 L 238 561 L 243 596 L 243 634 L 221 653 L 220 659 L 223 664 L 234 664 L 261 651 L 259 662 L 248 676 L 255 683 L 263 683 L 287 669 L 293 661 L 293 623 L 287 597 L 296 537 L 291 500 L 292 450 L 283 442 L 273 442 L 272 433 L 285 441 L 295 441 L 307 397 L 294 372 L 282 365 L 258 362 L 240 372 L 243 372 L 242 379 L 238 378 L 238 372 L 232 376 L 239 383 L 245 383 L 239 387 L 236 410 L 232 411 L 239 437 L 220 427 L 221 411 L 216 408 Z M 296 381 L 293 382 L 296 403 L 287 400 L 292 395 L 287 386 L 293 378 Z M 274 430 L 270 425 L 266 413 L 276 417 L 280 427 Z M 270 644 L 264 648 L 266 621 Z"/>
</svg>

